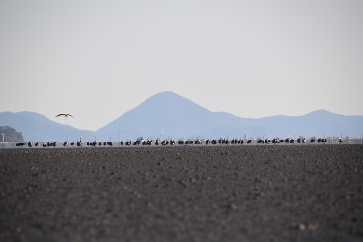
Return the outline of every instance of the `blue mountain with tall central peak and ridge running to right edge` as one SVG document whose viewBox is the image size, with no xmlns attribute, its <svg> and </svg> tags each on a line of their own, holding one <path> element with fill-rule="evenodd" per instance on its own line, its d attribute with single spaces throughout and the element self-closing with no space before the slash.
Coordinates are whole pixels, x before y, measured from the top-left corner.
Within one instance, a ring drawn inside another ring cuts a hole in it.
<svg viewBox="0 0 363 242">
<path fill-rule="evenodd" d="M 144 138 L 275 137 L 341 134 L 360 135 L 362 115 L 344 116 L 317 110 L 301 116 L 277 115 L 241 118 L 226 112 L 211 112 L 173 92 L 161 92 L 96 131 L 97 137 L 117 141 Z"/>
</svg>

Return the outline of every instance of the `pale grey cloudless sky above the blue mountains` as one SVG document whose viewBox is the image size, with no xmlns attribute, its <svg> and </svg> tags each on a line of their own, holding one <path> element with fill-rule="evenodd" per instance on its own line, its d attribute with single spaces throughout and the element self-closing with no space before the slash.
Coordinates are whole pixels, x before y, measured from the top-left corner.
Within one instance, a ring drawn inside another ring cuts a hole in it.
<svg viewBox="0 0 363 242">
<path fill-rule="evenodd" d="M 0 112 L 95 131 L 172 91 L 239 117 L 363 115 L 362 11 L 361 0 L 0 0 Z"/>
</svg>

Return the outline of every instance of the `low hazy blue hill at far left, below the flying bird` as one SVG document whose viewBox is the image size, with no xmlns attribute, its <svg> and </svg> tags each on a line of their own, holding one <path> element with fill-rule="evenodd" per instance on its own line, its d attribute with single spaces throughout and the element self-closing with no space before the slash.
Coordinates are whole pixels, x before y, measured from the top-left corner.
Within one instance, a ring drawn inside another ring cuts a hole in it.
<svg viewBox="0 0 363 242">
<path fill-rule="evenodd" d="M 81 136 L 83 140 L 94 139 L 94 132 L 92 131 L 58 124 L 36 112 L 0 112 L 0 126 L 6 125 L 14 128 L 17 132 L 22 132 L 25 141 L 64 142 L 67 140 L 67 136 L 69 136 L 70 142 Z"/>
</svg>

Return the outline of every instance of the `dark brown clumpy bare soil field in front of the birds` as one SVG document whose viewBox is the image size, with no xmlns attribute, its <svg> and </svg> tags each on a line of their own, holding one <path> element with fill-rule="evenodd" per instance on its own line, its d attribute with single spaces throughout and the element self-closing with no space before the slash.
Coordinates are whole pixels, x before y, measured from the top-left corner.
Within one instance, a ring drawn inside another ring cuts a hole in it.
<svg viewBox="0 0 363 242">
<path fill-rule="evenodd" d="M 0 150 L 0 241 L 363 241 L 362 145 Z"/>
</svg>

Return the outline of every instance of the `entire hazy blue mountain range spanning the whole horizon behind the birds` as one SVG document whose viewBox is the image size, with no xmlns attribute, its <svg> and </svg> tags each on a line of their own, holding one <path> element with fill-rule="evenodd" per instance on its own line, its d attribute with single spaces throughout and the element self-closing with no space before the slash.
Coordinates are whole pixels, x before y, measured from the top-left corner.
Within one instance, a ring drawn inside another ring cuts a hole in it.
<svg viewBox="0 0 363 242">
<path fill-rule="evenodd" d="M 25 141 L 70 141 L 82 136 L 83 141 L 126 139 L 138 137 L 172 138 L 287 138 L 316 135 L 345 137 L 363 133 L 363 116 L 345 116 L 316 110 L 301 116 L 277 115 L 263 118 L 241 118 L 226 112 L 211 112 L 173 92 L 157 93 L 96 132 L 58 124 L 34 112 L 1 112 L 0 126 L 11 126 L 22 132 Z"/>
</svg>

